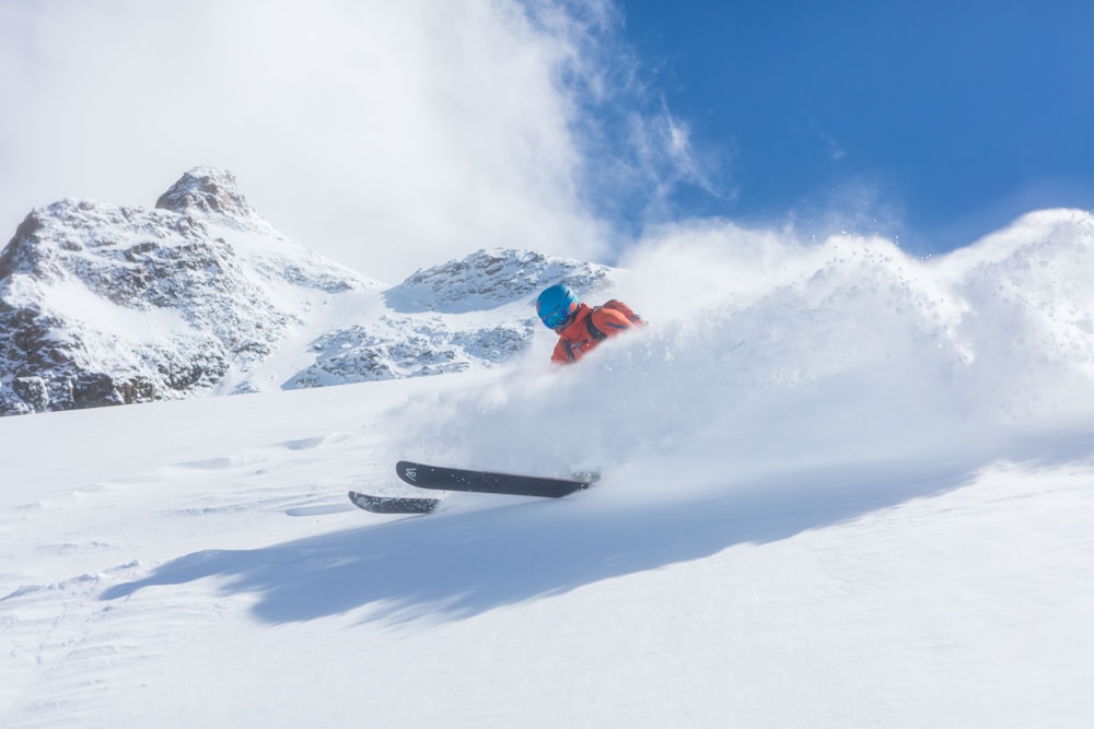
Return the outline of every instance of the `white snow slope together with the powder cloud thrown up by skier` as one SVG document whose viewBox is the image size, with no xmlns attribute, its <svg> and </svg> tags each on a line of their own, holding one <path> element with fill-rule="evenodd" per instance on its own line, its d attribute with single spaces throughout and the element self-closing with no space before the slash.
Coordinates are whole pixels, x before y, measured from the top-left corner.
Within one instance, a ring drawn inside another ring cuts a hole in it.
<svg viewBox="0 0 1094 729">
<path fill-rule="evenodd" d="M 1094 220 L 789 238 L 665 230 L 569 369 L 0 420 L 0 725 L 1094 724 Z"/>
</svg>

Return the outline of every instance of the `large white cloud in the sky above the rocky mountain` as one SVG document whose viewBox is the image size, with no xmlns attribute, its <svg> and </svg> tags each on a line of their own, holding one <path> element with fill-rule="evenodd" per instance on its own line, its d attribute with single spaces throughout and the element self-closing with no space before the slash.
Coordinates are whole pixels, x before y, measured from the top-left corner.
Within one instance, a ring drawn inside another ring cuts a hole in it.
<svg viewBox="0 0 1094 729">
<path fill-rule="evenodd" d="M 389 282 L 480 248 L 604 260 L 613 215 L 694 167 L 620 23 L 604 0 L 0 0 L 0 227 L 210 164 Z"/>
</svg>

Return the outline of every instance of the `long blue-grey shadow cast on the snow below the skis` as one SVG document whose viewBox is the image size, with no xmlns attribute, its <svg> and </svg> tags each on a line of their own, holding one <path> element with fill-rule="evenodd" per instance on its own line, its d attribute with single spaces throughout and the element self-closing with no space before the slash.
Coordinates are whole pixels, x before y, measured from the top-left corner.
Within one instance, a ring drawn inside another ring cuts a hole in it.
<svg viewBox="0 0 1094 729">
<path fill-rule="evenodd" d="M 958 487 L 974 470 L 967 462 L 934 469 L 814 472 L 656 503 L 635 503 L 625 485 L 560 501 L 502 499 L 493 508 L 453 508 L 255 550 L 195 552 L 110 587 L 102 599 L 220 577 L 225 592 L 258 595 L 254 612 L 270 623 L 362 608 L 366 620 L 456 620 L 735 544 L 787 539 Z"/>
</svg>

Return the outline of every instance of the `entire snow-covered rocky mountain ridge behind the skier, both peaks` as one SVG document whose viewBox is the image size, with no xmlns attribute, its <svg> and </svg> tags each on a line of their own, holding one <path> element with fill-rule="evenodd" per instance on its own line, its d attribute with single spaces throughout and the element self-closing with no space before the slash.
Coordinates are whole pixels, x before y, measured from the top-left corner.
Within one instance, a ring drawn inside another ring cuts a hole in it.
<svg viewBox="0 0 1094 729">
<path fill-rule="evenodd" d="M 537 289 L 608 273 L 482 250 L 386 287 L 196 168 L 155 209 L 63 200 L 19 226 L 0 255 L 0 414 L 492 366 L 527 349 Z"/>
</svg>

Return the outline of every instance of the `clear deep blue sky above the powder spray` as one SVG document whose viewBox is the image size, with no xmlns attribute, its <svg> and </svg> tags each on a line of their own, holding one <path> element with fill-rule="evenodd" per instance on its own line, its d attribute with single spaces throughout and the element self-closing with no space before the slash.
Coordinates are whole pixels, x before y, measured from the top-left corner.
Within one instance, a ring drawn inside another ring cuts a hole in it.
<svg viewBox="0 0 1094 729">
<path fill-rule="evenodd" d="M 678 214 L 853 225 L 930 254 L 1094 208 L 1090 0 L 618 7 L 649 91 L 717 161 L 717 193 L 680 187 Z"/>
</svg>

